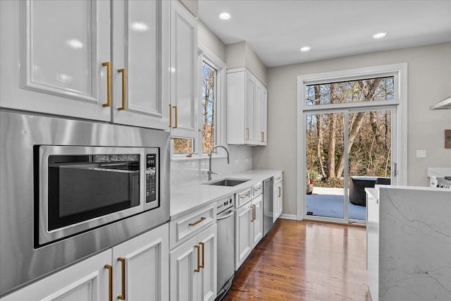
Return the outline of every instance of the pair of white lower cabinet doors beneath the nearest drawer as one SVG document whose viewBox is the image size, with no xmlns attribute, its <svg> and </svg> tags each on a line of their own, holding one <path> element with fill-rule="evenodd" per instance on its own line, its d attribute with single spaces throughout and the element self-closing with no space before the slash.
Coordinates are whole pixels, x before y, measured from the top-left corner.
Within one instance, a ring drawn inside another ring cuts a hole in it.
<svg viewBox="0 0 451 301">
<path fill-rule="evenodd" d="M 171 301 L 216 298 L 216 223 L 169 254 Z"/>
</svg>

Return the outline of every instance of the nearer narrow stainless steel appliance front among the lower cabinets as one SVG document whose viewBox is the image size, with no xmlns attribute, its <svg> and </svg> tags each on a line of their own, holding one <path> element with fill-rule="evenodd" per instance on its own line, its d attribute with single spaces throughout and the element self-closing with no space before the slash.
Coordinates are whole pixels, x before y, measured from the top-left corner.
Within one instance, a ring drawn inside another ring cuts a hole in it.
<svg viewBox="0 0 451 301">
<path fill-rule="evenodd" d="M 218 225 L 218 297 L 221 300 L 235 276 L 235 209 L 234 195 L 216 202 Z"/>
</svg>

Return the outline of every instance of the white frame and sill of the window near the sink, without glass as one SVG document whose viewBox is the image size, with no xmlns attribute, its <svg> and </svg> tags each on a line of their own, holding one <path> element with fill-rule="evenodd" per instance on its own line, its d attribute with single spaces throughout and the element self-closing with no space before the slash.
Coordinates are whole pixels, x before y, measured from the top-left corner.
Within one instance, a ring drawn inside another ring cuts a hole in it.
<svg viewBox="0 0 451 301">
<path fill-rule="evenodd" d="M 187 156 L 187 154 L 174 154 L 173 139 L 171 139 L 171 159 L 172 160 L 199 160 L 209 158 L 208 154 L 203 154 L 202 148 L 202 66 L 207 63 L 211 68 L 216 70 L 216 98 L 215 98 L 215 145 L 225 145 L 226 143 L 226 63 L 218 58 L 213 52 L 198 44 L 198 102 L 197 116 L 198 116 L 198 130 L 196 137 L 192 138 L 194 154 Z M 185 137 L 175 137 L 183 138 Z M 226 152 L 219 149 L 212 158 L 226 157 Z"/>
</svg>

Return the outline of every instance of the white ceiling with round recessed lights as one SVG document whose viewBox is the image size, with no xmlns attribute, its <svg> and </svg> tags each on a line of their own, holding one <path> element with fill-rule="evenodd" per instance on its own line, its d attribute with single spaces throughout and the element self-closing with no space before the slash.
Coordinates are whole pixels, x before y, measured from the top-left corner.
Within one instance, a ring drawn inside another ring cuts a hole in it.
<svg viewBox="0 0 451 301">
<path fill-rule="evenodd" d="M 225 44 L 247 41 L 266 67 L 451 42 L 451 0 L 199 0 L 199 19 Z"/>
</svg>

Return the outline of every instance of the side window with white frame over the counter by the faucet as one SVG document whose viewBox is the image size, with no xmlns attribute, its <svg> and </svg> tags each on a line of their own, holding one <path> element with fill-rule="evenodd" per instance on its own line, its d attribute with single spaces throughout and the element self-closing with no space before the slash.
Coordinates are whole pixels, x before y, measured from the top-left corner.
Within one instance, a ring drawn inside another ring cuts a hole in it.
<svg viewBox="0 0 451 301">
<path fill-rule="evenodd" d="M 225 143 L 225 80 L 226 63 L 199 46 L 199 133 L 194 139 L 173 137 L 173 159 L 202 159 L 214 145 Z"/>
</svg>

